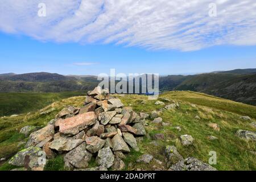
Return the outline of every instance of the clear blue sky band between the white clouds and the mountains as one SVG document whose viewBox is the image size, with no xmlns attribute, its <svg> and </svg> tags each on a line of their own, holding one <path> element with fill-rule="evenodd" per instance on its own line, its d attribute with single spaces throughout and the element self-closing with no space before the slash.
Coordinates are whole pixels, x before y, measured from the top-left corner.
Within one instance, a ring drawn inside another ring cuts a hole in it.
<svg viewBox="0 0 256 182">
<path fill-rule="evenodd" d="M 215 46 L 181 52 L 113 44 L 46 43 L 4 33 L 0 40 L 0 73 L 98 75 L 115 68 L 117 73 L 176 75 L 256 68 L 256 46 Z"/>
</svg>

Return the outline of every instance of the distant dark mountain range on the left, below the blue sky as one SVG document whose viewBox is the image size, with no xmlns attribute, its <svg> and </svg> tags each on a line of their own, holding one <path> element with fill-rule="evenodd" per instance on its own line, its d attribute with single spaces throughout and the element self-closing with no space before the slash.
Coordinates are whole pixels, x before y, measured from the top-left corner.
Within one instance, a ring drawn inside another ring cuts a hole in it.
<svg viewBox="0 0 256 182">
<path fill-rule="evenodd" d="M 97 78 L 77 79 L 56 73 L 26 73 L 0 77 L 0 92 L 67 92 L 90 90 Z"/>
</svg>

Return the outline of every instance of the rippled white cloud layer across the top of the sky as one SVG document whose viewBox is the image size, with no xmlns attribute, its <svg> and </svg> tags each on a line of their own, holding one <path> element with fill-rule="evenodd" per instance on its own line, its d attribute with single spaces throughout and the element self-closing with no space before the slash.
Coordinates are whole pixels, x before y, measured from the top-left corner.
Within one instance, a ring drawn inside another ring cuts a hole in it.
<svg viewBox="0 0 256 182">
<path fill-rule="evenodd" d="M 256 45 L 255 0 L 2 0 L 0 30 L 38 40 L 192 51 Z M 209 3 L 217 17 L 209 17 Z"/>
</svg>

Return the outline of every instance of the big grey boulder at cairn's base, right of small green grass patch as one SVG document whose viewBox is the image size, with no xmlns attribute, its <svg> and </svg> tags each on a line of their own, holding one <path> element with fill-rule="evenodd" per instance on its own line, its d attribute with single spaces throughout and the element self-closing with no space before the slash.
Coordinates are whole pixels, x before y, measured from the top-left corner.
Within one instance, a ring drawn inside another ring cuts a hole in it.
<svg viewBox="0 0 256 182">
<path fill-rule="evenodd" d="M 92 154 L 86 150 L 86 144 L 82 143 L 64 156 L 65 166 L 68 168 L 87 168 L 92 159 Z"/>
</svg>

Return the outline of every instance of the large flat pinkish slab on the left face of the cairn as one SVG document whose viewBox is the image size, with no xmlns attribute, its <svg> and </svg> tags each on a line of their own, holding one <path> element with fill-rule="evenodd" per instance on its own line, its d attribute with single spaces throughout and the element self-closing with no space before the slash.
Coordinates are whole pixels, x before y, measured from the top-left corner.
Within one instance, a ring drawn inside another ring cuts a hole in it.
<svg viewBox="0 0 256 182">
<path fill-rule="evenodd" d="M 93 125 L 96 122 L 94 112 L 79 114 L 71 118 L 64 119 L 60 123 L 60 133 L 67 135 L 76 135 L 86 127 Z"/>
</svg>

